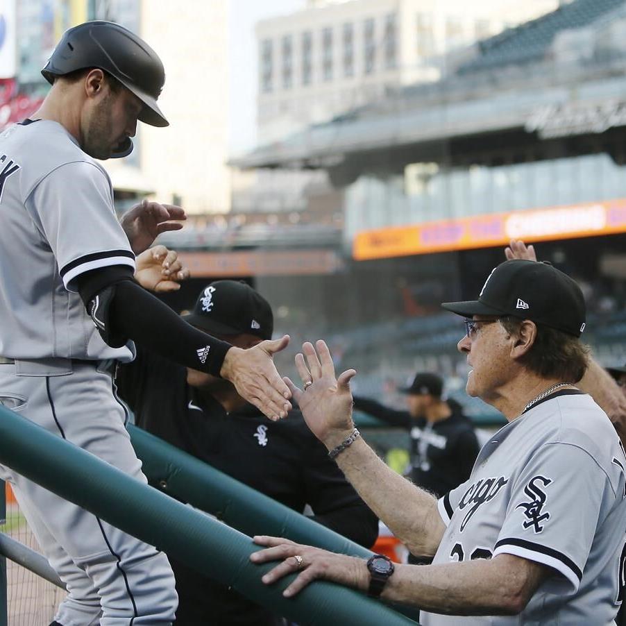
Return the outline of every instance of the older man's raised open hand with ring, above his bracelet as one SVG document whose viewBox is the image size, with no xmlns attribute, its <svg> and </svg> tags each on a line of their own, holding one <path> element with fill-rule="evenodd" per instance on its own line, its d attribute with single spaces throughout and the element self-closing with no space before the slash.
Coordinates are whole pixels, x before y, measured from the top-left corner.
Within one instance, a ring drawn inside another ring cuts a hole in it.
<svg viewBox="0 0 626 626">
<path fill-rule="evenodd" d="M 354 428 L 350 378 L 356 371 L 349 369 L 335 378 L 335 365 L 328 346 L 321 340 L 315 345 L 317 352 L 308 341 L 303 344 L 306 363 L 305 356 L 296 355 L 296 368 L 305 391 L 298 389 L 289 378 L 285 378 L 285 382 L 300 405 L 309 429 L 330 450 L 344 441 Z"/>
</svg>

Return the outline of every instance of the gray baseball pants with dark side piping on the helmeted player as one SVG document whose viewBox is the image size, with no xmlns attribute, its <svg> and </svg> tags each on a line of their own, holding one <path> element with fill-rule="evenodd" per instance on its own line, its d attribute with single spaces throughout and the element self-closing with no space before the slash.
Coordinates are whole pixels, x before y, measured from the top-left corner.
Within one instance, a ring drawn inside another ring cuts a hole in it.
<svg viewBox="0 0 626 626">
<path fill-rule="evenodd" d="M 42 359 L 0 364 L 0 403 L 146 484 L 108 364 Z M 33 461 L 36 462 L 36 461 Z M 139 539 L 0 466 L 42 551 L 67 586 L 62 626 L 174 621 L 167 557 Z"/>
</svg>

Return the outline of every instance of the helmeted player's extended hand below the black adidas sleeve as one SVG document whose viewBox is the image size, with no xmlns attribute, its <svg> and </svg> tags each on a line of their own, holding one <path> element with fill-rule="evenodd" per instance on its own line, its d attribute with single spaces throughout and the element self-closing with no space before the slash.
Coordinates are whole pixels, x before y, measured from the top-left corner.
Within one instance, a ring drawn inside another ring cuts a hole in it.
<svg viewBox="0 0 626 626">
<path fill-rule="evenodd" d="M 253 348 L 232 347 L 226 353 L 220 375 L 235 385 L 239 395 L 261 410 L 272 421 L 287 417 L 291 410 L 291 391 L 280 378 L 273 355 L 289 344 L 289 335 L 261 341 Z"/>
</svg>

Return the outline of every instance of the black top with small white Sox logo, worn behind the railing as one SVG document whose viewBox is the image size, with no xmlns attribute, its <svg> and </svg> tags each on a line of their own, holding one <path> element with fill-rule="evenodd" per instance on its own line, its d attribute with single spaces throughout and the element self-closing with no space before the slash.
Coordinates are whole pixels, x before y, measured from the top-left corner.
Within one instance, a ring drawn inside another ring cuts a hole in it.
<svg viewBox="0 0 626 626">
<path fill-rule="evenodd" d="M 228 414 L 217 400 L 189 387 L 184 367 L 143 350 L 119 367 L 116 382 L 141 428 L 291 509 L 302 512 L 310 505 L 316 521 L 366 548 L 375 542 L 378 519 L 299 412 L 278 422 L 252 405 Z M 170 561 L 179 595 L 177 625 L 273 623 L 266 609 Z"/>
</svg>

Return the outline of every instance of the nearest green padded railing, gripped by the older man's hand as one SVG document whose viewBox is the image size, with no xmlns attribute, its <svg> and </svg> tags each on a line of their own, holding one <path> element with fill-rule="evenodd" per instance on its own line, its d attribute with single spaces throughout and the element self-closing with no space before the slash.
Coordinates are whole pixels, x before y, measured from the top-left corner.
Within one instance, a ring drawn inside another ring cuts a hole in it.
<svg viewBox="0 0 626 626">
<path fill-rule="evenodd" d="M 258 549 L 249 536 L 137 482 L 4 407 L 0 407 L 0 463 L 297 623 L 416 624 L 381 602 L 329 582 L 316 581 L 296 598 L 284 598 L 282 591 L 293 575 L 264 585 L 261 576 L 272 565 L 249 561 Z M 174 475 L 170 484 L 172 480 Z"/>
</svg>

